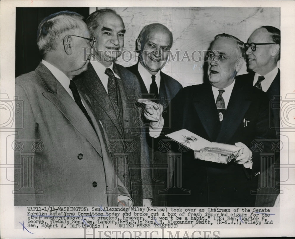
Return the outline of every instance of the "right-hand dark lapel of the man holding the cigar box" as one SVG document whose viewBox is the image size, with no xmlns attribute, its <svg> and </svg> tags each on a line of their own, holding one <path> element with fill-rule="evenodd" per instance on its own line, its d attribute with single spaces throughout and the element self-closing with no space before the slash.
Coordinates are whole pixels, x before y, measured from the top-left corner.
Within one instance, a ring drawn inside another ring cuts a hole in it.
<svg viewBox="0 0 295 239">
<path fill-rule="evenodd" d="M 240 82 L 236 80 L 216 142 L 228 142 L 239 127 L 251 104 L 247 92 L 248 89 L 243 89 Z"/>
</svg>

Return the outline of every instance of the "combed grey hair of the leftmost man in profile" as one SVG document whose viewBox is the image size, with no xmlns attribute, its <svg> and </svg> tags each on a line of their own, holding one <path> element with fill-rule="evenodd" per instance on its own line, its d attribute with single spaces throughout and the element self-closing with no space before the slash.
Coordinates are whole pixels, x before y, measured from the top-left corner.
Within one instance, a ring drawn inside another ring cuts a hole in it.
<svg viewBox="0 0 295 239">
<path fill-rule="evenodd" d="M 42 55 L 55 50 L 61 34 L 67 31 L 82 30 L 83 16 L 76 12 L 62 11 L 45 17 L 39 24 L 37 31 L 37 45 Z"/>
</svg>

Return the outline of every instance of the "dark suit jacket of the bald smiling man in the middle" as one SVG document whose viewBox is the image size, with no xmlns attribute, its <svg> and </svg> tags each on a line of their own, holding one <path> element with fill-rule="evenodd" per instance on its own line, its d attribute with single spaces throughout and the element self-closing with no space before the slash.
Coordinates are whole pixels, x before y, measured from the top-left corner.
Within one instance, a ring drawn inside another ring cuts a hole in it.
<svg viewBox="0 0 295 239">
<path fill-rule="evenodd" d="M 134 73 L 140 83 L 140 89 L 142 93 L 142 98 L 148 98 L 149 91 L 146 89 L 145 84 L 142 80 L 142 77 L 140 76 L 140 73 L 138 72 L 138 64 L 127 67 L 129 71 Z M 173 79 L 171 76 L 166 75 L 162 71 L 160 71 L 160 89 L 158 94 L 158 102 L 163 105 L 163 108 L 167 108 L 167 106 L 170 104 L 173 97 L 178 93 L 180 89 L 182 89 L 182 85 Z M 171 106 L 171 104 L 170 104 Z M 149 125 L 149 124 L 148 124 Z M 168 167 L 168 159 L 167 159 L 167 150 L 163 148 L 163 150 L 159 150 L 158 147 L 154 147 L 154 141 L 149 137 L 149 128 L 147 127 L 147 138 L 148 138 L 148 144 L 149 144 L 149 151 L 151 160 L 154 164 L 153 166 L 153 179 L 154 179 L 154 194 L 153 194 L 153 205 L 154 206 L 166 206 L 166 197 L 165 192 L 163 190 L 166 189 L 168 182 L 171 180 L 171 171 L 170 175 L 167 177 L 167 168 L 161 168 L 162 166 L 157 166 L 156 164 L 166 164 Z M 157 150 L 153 150 L 153 148 Z M 160 192 L 162 191 L 162 192 Z"/>
</svg>

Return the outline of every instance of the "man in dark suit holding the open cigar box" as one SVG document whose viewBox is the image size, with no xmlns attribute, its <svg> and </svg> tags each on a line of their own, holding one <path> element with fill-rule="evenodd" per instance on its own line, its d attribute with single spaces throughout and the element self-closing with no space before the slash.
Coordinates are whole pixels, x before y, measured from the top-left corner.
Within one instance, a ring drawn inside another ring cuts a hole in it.
<svg viewBox="0 0 295 239">
<path fill-rule="evenodd" d="M 194 159 L 192 150 L 183 150 L 181 178 L 174 174 L 172 180 L 181 182 L 181 186 L 178 183 L 178 188 L 171 188 L 168 205 L 254 206 L 251 190 L 257 189 L 260 153 L 253 141 L 258 140 L 268 150 L 273 138 L 268 127 L 268 99 L 264 92 L 235 79 L 246 57 L 243 42 L 223 33 L 214 38 L 210 50 L 209 82 L 178 92 L 171 112 L 163 115 L 162 134 L 187 129 L 211 142 L 242 147 L 243 153 L 225 165 Z M 145 113 L 153 116 L 161 112 Z M 173 150 L 178 152 L 178 146 Z M 182 194 L 183 189 L 190 194 Z"/>
</svg>

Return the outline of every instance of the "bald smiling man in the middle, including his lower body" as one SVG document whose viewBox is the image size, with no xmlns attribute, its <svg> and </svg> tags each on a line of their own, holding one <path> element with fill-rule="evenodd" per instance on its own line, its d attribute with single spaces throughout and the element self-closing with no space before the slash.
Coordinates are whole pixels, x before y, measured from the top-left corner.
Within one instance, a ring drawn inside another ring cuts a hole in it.
<svg viewBox="0 0 295 239">
<path fill-rule="evenodd" d="M 141 30 L 136 40 L 136 50 L 139 52 L 139 61 L 137 64 L 127 67 L 134 73 L 140 83 L 142 97 L 157 101 L 167 107 L 173 97 L 182 88 L 182 85 L 161 71 L 165 66 L 169 50 L 173 42 L 171 31 L 160 23 L 146 25 Z M 150 144 L 151 160 L 154 164 L 167 164 L 166 152 L 153 150 L 153 143 Z M 161 194 L 160 190 L 166 189 L 167 169 L 160 169 L 157 166 L 153 170 L 153 179 L 155 179 L 155 188 L 153 194 L 154 206 L 165 206 L 166 196 Z M 158 182 L 157 182 L 158 181 Z M 162 181 L 159 183 L 159 181 Z M 162 185 L 159 185 L 162 184 Z"/>
</svg>

